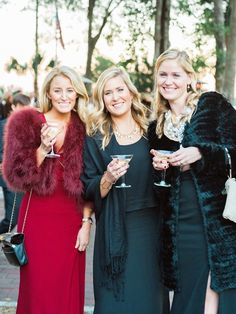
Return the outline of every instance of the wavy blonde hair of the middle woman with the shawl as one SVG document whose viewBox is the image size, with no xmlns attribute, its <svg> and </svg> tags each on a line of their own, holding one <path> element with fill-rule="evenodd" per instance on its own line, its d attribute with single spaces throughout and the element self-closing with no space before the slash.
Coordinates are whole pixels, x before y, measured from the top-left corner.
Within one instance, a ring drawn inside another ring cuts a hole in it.
<svg viewBox="0 0 236 314">
<path fill-rule="evenodd" d="M 110 67 L 106 69 L 99 76 L 96 85 L 93 90 L 93 105 L 94 109 L 88 115 L 86 121 L 87 134 L 92 136 L 97 132 L 100 132 L 102 140 L 102 148 L 104 149 L 112 136 L 112 118 L 110 113 L 107 111 L 103 96 L 104 87 L 106 83 L 115 77 L 121 77 L 130 93 L 133 96 L 131 113 L 132 117 L 141 129 L 142 133 L 147 130 L 147 118 L 145 106 L 141 103 L 140 95 L 137 88 L 131 82 L 128 73 L 122 67 Z"/>
</svg>

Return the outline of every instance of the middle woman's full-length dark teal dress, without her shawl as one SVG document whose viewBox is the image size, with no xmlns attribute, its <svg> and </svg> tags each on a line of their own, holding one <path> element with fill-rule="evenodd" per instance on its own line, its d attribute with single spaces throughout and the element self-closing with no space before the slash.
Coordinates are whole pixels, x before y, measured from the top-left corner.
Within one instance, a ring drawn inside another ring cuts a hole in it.
<svg viewBox="0 0 236 314">
<path fill-rule="evenodd" d="M 103 273 L 99 263 L 98 220 L 94 251 L 94 314 L 167 314 L 168 294 L 161 284 L 159 267 L 160 210 L 153 192 L 148 142 L 142 137 L 134 144 L 122 146 L 113 137 L 108 149 L 113 154 L 133 155 L 126 174 L 126 183 L 131 184 L 131 188 L 126 189 L 124 208 L 128 257 L 125 263 L 124 298 L 117 300 L 113 291 L 101 284 Z"/>
</svg>

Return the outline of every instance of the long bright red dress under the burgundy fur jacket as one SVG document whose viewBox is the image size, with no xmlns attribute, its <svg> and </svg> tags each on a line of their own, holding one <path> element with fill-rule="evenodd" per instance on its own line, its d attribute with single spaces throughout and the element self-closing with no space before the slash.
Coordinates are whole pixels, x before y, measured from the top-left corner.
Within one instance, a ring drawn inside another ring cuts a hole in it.
<svg viewBox="0 0 236 314">
<path fill-rule="evenodd" d="M 25 246 L 28 264 L 20 269 L 16 314 L 83 314 L 85 253 L 75 249 L 82 210 L 63 188 L 63 157 L 54 159 L 57 187 L 50 196 L 32 193 Z M 29 193 L 22 201 L 21 230 Z"/>
</svg>

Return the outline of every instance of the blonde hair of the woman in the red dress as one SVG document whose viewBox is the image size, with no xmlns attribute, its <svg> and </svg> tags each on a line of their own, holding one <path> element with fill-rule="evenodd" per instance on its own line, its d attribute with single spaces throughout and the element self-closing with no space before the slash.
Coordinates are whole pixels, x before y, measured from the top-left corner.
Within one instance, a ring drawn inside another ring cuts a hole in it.
<svg viewBox="0 0 236 314">
<path fill-rule="evenodd" d="M 82 119 L 82 121 L 85 122 L 85 108 L 87 107 L 87 103 L 88 103 L 88 94 L 87 94 L 86 88 L 84 86 L 84 83 L 81 77 L 77 74 L 77 72 L 73 70 L 72 68 L 65 65 L 60 66 L 60 67 L 55 67 L 46 76 L 43 82 L 43 86 L 42 86 L 41 94 L 39 98 L 40 110 L 43 113 L 45 113 L 45 112 L 48 112 L 52 108 L 51 100 L 48 97 L 48 93 L 49 93 L 51 82 L 56 76 L 64 76 L 64 77 L 67 77 L 71 81 L 71 84 L 78 95 L 76 105 L 73 108 L 73 110 L 75 110 L 80 116 L 80 118 Z"/>
</svg>

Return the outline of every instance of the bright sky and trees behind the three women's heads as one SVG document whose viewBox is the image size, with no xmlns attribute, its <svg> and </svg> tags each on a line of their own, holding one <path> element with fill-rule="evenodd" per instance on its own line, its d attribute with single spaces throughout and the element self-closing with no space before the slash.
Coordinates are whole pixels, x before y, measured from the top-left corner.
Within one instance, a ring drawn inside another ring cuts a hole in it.
<svg viewBox="0 0 236 314">
<path fill-rule="evenodd" d="M 151 96 L 156 57 L 177 47 L 193 58 L 200 89 L 235 103 L 235 29 L 236 0 L 0 0 L 0 97 L 19 88 L 37 97 L 56 64 L 93 82 L 123 65 Z"/>
</svg>

